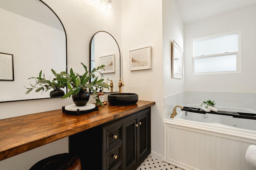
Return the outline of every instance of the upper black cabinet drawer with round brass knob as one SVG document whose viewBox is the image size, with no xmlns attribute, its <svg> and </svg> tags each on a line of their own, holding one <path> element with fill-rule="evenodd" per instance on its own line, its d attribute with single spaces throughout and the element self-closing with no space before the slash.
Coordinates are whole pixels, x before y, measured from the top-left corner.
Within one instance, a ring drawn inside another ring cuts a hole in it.
<svg viewBox="0 0 256 170">
<path fill-rule="evenodd" d="M 106 151 L 122 143 L 122 124 L 114 123 L 103 127 L 104 139 L 106 139 Z"/>
</svg>

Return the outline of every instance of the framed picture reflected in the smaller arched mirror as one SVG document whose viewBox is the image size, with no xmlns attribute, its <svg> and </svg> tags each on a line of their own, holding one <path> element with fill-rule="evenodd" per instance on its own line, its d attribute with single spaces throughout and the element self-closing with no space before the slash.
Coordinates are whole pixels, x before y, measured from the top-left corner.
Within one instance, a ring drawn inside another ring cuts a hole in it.
<svg viewBox="0 0 256 170">
<path fill-rule="evenodd" d="M 105 70 L 101 70 L 101 73 L 110 73 L 110 72 L 116 72 L 116 66 L 115 66 L 115 55 L 107 55 L 104 57 L 100 57 L 99 60 L 100 66 L 105 65 Z"/>
</svg>

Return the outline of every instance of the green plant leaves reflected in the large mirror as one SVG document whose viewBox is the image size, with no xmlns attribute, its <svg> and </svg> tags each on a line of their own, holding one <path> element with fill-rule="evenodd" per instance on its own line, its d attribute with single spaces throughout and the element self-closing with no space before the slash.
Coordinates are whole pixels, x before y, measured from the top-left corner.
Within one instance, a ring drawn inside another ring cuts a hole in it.
<svg viewBox="0 0 256 170">
<path fill-rule="evenodd" d="M 30 86 L 32 86 L 31 88 L 26 88 L 28 89 L 28 91 L 26 91 L 26 94 L 29 94 L 33 89 L 35 89 L 35 92 L 40 92 L 42 90 L 42 93 L 45 91 L 48 91 L 50 89 L 54 89 L 54 90 L 60 90 L 61 88 L 66 87 L 66 82 L 62 81 L 61 78 L 65 75 L 65 71 L 60 72 L 60 73 L 56 73 L 53 69 L 52 69 L 52 73 L 54 74 L 55 78 L 53 78 L 52 80 L 47 80 L 43 74 L 42 76 L 42 70 L 39 72 L 39 76 L 38 77 L 30 77 L 28 79 L 32 79 L 34 78 L 36 80 L 36 84 L 32 85 L 30 83 Z"/>
</svg>

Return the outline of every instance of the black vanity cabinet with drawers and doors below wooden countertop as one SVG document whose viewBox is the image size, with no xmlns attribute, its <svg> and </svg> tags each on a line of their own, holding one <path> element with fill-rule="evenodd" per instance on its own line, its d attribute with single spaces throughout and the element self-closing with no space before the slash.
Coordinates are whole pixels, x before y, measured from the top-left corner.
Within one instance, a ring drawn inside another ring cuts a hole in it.
<svg viewBox="0 0 256 170">
<path fill-rule="evenodd" d="M 150 154 L 150 108 L 69 137 L 82 170 L 136 170 Z"/>
</svg>

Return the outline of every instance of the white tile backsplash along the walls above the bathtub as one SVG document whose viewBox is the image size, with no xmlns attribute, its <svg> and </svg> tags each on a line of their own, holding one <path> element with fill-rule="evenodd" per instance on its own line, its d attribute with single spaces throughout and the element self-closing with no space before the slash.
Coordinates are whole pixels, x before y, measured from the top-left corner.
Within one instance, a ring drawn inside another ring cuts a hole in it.
<svg viewBox="0 0 256 170">
<path fill-rule="evenodd" d="M 203 101 L 212 100 L 216 106 L 250 108 L 256 111 L 255 93 L 230 92 L 180 92 L 164 98 L 164 118 L 170 117 L 176 105 L 202 104 Z"/>
</svg>

